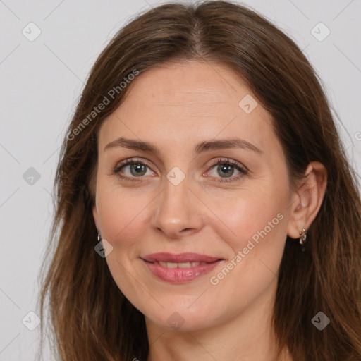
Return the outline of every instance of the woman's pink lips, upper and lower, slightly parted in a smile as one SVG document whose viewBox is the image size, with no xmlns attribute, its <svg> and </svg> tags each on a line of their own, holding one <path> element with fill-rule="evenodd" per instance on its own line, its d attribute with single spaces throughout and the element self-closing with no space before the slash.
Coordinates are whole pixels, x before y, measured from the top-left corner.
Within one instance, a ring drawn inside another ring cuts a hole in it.
<svg viewBox="0 0 361 361">
<path fill-rule="evenodd" d="M 160 252 L 147 255 L 141 259 L 154 276 L 157 276 L 162 281 L 167 281 L 169 283 L 185 283 L 192 281 L 199 276 L 209 273 L 212 269 L 214 269 L 214 267 L 223 261 L 223 259 L 216 257 L 190 252 L 181 253 L 180 255 Z M 207 264 L 199 264 L 195 267 L 188 268 L 167 268 L 162 267 L 158 262 L 206 262 Z"/>
</svg>

